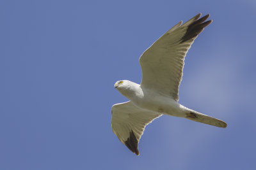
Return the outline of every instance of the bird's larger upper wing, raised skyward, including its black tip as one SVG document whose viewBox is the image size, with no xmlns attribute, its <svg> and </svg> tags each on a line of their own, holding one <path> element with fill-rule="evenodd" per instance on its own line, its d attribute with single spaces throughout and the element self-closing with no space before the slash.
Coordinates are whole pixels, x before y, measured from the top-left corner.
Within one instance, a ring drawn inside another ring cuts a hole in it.
<svg viewBox="0 0 256 170">
<path fill-rule="evenodd" d="M 209 15 L 200 16 L 201 13 L 184 24 L 179 22 L 141 55 L 141 87 L 179 101 L 179 85 L 186 53 L 198 34 L 212 22 L 205 22 Z"/>
</svg>

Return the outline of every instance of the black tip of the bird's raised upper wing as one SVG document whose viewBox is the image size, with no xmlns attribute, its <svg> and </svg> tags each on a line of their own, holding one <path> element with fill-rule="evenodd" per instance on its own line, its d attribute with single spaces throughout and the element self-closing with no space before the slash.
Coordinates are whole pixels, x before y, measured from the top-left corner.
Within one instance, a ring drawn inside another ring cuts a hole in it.
<svg viewBox="0 0 256 170">
<path fill-rule="evenodd" d="M 180 43 L 184 43 L 185 41 L 188 41 L 189 39 L 195 38 L 196 36 L 198 36 L 198 34 L 200 34 L 200 32 L 202 32 L 204 30 L 204 28 L 207 25 L 211 24 L 212 20 L 207 20 L 207 18 L 210 17 L 210 14 L 207 14 L 200 19 L 198 19 L 199 18 L 198 16 L 200 17 L 200 14 L 196 15 L 196 17 L 195 17 L 196 20 L 188 25 L 186 34 L 184 34 Z M 207 21 L 205 22 L 205 20 L 207 20 Z"/>
</svg>

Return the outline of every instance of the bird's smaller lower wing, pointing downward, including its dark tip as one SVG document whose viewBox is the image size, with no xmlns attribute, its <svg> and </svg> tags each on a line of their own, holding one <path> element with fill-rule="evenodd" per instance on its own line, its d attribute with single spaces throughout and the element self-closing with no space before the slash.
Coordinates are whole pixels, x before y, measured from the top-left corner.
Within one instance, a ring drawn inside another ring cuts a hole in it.
<svg viewBox="0 0 256 170">
<path fill-rule="evenodd" d="M 147 124 L 161 114 L 142 110 L 131 101 L 112 106 L 112 131 L 131 152 L 140 155 L 138 143 Z"/>
</svg>

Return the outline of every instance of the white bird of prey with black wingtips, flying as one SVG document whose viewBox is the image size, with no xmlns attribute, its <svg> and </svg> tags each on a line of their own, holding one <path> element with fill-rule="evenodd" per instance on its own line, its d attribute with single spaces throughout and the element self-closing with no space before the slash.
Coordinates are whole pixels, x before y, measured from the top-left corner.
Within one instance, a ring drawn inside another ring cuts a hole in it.
<svg viewBox="0 0 256 170">
<path fill-rule="evenodd" d="M 161 115 L 227 127 L 223 120 L 178 103 L 186 53 L 198 34 L 212 22 L 207 20 L 209 14 L 201 15 L 199 13 L 184 24 L 180 21 L 143 52 L 139 60 L 142 69 L 140 84 L 120 80 L 114 85 L 129 101 L 112 106 L 112 131 L 136 155 L 140 155 L 138 143 L 145 127 Z"/>
</svg>

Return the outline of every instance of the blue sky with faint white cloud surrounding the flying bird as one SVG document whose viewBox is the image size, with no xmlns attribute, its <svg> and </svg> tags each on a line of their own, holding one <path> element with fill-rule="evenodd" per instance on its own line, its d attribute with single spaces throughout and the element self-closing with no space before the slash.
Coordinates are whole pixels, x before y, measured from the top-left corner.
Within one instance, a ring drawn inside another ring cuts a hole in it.
<svg viewBox="0 0 256 170">
<path fill-rule="evenodd" d="M 226 129 L 163 116 L 140 156 L 111 130 L 141 53 L 211 14 L 185 60 L 179 103 Z M 0 1 L 0 169 L 256 169 L 256 1 Z"/>
</svg>

